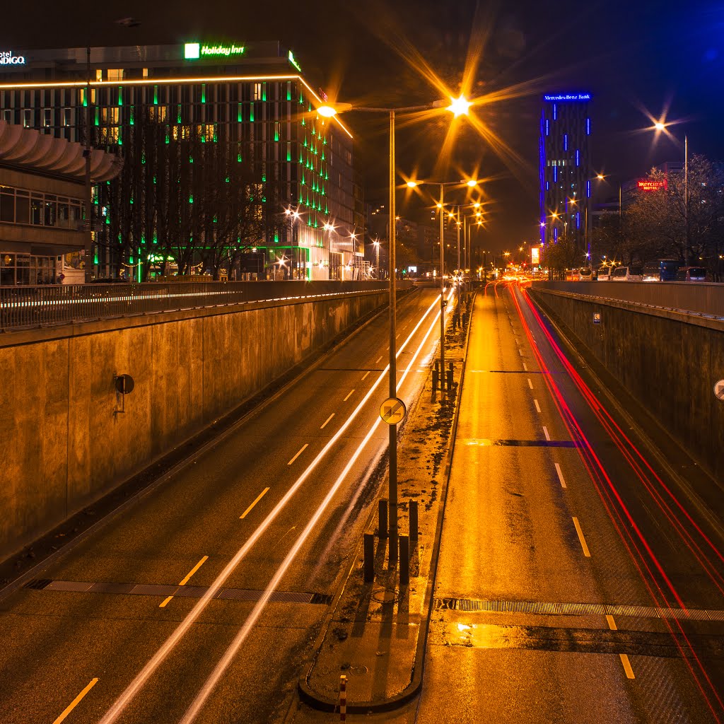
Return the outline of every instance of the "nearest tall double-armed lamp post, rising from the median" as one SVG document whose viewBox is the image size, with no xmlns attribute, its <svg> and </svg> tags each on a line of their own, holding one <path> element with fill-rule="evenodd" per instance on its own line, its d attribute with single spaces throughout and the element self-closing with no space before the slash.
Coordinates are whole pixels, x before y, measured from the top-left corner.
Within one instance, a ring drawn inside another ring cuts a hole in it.
<svg viewBox="0 0 724 724">
<path fill-rule="evenodd" d="M 389 269 L 388 277 L 390 277 L 390 374 L 389 374 L 389 394 L 390 397 L 397 397 L 397 345 L 396 345 L 396 324 L 397 324 L 397 274 L 395 274 L 395 112 L 412 113 L 414 111 L 427 111 L 437 108 L 445 108 L 452 111 L 457 117 L 461 114 L 467 114 L 470 102 L 460 96 L 460 98 L 450 98 L 447 101 L 435 101 L 426 106 L 406 106 L 403 108 L 369 108 L 352 106 L 348 103 L 335 104 L 334 106 L 320 106 L 317 110 L 321 116 L 331 118 L 338 113 L 346 111 L 362 111 L 363 113 L 384 113 L 390 117 L 390 233 L 389 248 L 387 250 L 387 267 Z M 389 428 L 389 454 L 390 454 L 390 474 L 388 485 L 388 510 L 389 510 L 389 560 L 391 564 L 397 563 L 397 425 L 388 425 Z"/>
</svg>

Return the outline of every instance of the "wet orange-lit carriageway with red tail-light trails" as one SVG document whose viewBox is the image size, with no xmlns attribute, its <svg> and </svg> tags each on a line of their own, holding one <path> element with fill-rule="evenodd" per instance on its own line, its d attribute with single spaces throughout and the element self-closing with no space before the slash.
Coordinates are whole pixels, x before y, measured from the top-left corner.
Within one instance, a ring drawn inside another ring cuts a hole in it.
<svg viewBox="0 0 724 724">
<path fill-rule="evenodd" d="M 423 693 L 398 720 L 722 720 L 721 489 L 560 350 L 568 369 L 520 290 L 479 295 L 471 334 Z"/>
</svg>

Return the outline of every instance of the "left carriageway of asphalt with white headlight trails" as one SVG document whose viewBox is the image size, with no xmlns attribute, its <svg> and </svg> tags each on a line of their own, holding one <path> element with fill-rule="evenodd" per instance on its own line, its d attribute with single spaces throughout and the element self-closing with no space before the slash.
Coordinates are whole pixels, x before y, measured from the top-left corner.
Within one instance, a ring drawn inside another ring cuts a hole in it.
<svg viewBox="0 0 724 724">
<path fill-rule="evenodd" d="M 408 403 L 438 299 L 398 306 Z M 379 486 L 388 340 L 382 314 L 4 599 L 0 721 L 282 720 Z"/>
</svg>

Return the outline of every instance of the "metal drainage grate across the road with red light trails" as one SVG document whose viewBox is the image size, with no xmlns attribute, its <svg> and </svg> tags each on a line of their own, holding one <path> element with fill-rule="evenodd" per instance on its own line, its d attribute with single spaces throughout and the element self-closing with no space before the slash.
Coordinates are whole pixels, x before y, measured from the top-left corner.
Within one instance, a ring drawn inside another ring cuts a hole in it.
<svg viewBox="0 0 724 724">
<path fill-rule="evenodd" d="M 699 608 L 613 605 L 607 603 L 552 603 L 545 601 L 481 601 L 469 598 L 437 598 L 436 611 L 488 613 L 536 613 L 568 616 L 631 616 L 632 618 L 677 618 L 691 621 L 724 621 L 724 611 Z"/>
</svg>

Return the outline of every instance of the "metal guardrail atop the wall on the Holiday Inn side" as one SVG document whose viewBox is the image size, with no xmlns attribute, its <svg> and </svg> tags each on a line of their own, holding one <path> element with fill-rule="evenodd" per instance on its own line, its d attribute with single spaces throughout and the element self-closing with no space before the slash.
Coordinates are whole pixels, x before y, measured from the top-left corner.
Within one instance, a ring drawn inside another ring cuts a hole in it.
<svg viewBox="0 0 724 724">
<path fill-rule="evenodd" d="M 397 288 L 411 286 L 397 282 Z M 144 282 L 0 287 L 0 331 L 152 312 L 386 291 L 388 282 Z"/>
</svg>

